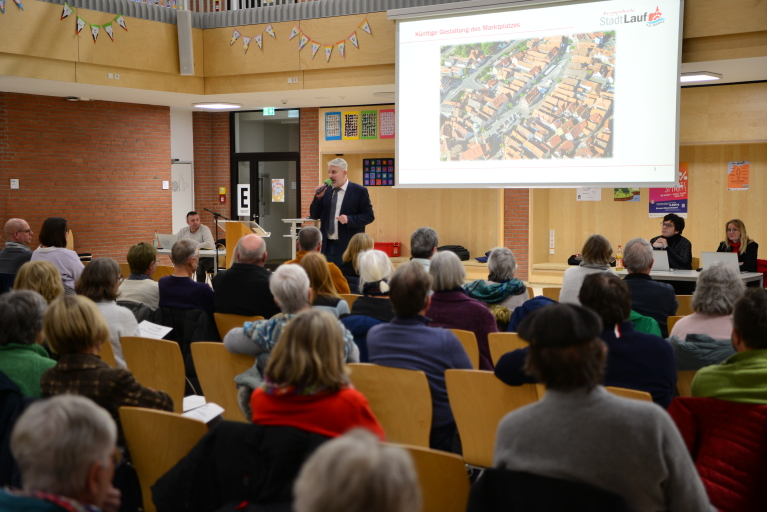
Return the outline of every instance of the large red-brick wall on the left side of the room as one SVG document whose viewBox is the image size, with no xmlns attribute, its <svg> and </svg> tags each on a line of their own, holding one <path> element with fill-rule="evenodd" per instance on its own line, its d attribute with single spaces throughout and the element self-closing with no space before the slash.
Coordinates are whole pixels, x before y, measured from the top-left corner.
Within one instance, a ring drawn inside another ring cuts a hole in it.
<svg viewBox="0 0 767 512">
<path fill-rule="evenodd" d="M 171 230 L 170 158 L 168 107 L 0 92 L 0 223 L 27 220 L 33 246 L 64 217 L 77 252 L 124 262 Z"/>
</svg>

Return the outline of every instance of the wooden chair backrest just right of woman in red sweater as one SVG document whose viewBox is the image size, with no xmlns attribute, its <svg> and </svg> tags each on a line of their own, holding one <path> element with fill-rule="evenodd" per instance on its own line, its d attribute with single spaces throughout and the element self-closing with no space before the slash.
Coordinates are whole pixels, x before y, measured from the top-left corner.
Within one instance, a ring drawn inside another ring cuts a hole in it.
<svg viewBox="0 0 767 512">
<path fill-rule="evenodd" d="M 387 440 L 429 447 L 432 405 L 424 372 L 370 363 L 352 363 L 349 369 L 352 384 L 368 399 Z"/>
</svg>

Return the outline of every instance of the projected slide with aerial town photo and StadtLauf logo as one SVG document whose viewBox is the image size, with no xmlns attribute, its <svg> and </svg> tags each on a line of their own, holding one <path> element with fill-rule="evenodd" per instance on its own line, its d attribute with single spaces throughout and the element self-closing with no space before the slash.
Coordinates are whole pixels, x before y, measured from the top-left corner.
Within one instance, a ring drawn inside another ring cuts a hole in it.
<svg viewBox="0 0 767 512">
<path fill-rule="evenodd" d="M 397 185 L 668 186 L 681 0 L 397 21 Z"/>
</svg>

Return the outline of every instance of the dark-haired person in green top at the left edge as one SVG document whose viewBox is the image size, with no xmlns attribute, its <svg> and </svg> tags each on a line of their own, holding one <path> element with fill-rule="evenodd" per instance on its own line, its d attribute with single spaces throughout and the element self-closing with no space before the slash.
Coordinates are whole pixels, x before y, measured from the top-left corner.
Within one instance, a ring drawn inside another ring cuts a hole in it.
<svg viewBox="0 0 767 512">
<path fill-rule="evenodd" d="M 40 377 L 56 364 L 41 346 L 45 299 L 28 290 L 0 295 L 0 372 L 21 390 L 40 397 Z"/>
</svg>

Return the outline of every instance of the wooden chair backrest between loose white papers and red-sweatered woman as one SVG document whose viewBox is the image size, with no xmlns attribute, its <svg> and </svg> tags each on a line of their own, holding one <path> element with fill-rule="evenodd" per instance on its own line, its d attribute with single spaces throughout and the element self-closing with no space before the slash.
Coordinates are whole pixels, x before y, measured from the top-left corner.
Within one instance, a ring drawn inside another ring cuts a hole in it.
<svg viewBox="0 0 767 512">
<path fill-rule="evenodd" d="M 205 400 L 224 408 L 224 419 L 247 422 L 237 403 L 234 378 L 251 368 L 253 356 L 232 354 L 223 343 L 198 341 L 192 343 L 192 358 L 197 378 L 205 392 Z"/>
</svg>

